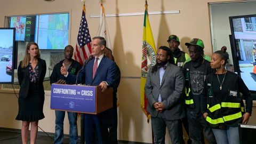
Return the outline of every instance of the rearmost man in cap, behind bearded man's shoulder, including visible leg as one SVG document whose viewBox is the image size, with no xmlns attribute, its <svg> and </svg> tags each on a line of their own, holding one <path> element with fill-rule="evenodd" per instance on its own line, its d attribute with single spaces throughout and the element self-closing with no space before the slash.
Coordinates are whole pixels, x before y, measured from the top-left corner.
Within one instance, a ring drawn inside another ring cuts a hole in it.
<svg viewBox="0 0 256 144">
<path fill-rule="evenodd" d="M 178 67 L 183 68 L 183 65 L 184 65 L 185 61 L 188 60 L 190 57 L 187 53 L 185 53 L 185 52 L 183 52 L 179 49 L 179 45 L 180 45 L 179 37 L 176 36 L 176 35 L 170 35 L 168 37 L 167 42 L 169 44 L 169 48 L 170 48 L 171 53 L 173 55 L 175 65 L 178 66 Z M 186 111 L 186 109 L 185 109 L 185 111 Z M 186 132 L 189 136 L 189 127 L 188 127 L 188 117 L 187 117 L 187 115 L 185 115 L 185 117 L 183 117 L 181 119 L 181 122 L 182 122 L 183 126 L 185 127 L 185 130 L 186 130 Z M 191 143 L 191 140 L 189 138 L 188 138 L 187 143 L 188 144 Z"/>
</svg>

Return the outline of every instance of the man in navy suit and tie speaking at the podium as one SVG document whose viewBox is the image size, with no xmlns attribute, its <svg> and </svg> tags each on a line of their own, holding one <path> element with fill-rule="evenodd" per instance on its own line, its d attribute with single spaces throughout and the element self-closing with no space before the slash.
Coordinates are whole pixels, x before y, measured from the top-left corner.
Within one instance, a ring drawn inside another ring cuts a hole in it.
<svg viewBox="0 0 256 144">
<path fill-rule="evenodd" d="M 97 36 L 92 38 L 92 55 L 94 58 L 78 74 L 78 83 L 83 82 L 85 85 L 101 86 L 102 92 L 107 87 L 113 87 L 115 81 L 115 62 L 106 58 L 103 50 L 106 47 L 106 40 Z M 75 82 L 76 76 L 68 74 L 65 65 L 61 67 L 61 74 L 66 77 L 67 82 Z M 109 143 L 107 129 L 107 113 L 103 111 L 98 115 L 85 114 L 85 142 L 86 144 L 95 143 L 95 135 L 93 135 L 96 127 L 98 143 Z"/>
</svg>

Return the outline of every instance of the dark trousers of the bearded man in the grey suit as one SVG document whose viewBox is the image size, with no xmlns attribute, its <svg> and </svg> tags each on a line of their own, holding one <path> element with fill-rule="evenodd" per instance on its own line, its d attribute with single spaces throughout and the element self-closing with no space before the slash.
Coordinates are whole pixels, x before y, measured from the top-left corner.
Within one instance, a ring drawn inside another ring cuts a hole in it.
<svg viewBox="0 0 256 144">
<path fill-rule="evenodd" d="M 172 144 L 182 144 L 182 124 L 181 120 L 167 120 L 162 113 L 159 113 L 157 117 L 151 117 L 151 122 L 153 126 L 154 141 L 155 144 L 165 143 L 165 129 L 169 131 L 169 135 Z"/>
</svg>

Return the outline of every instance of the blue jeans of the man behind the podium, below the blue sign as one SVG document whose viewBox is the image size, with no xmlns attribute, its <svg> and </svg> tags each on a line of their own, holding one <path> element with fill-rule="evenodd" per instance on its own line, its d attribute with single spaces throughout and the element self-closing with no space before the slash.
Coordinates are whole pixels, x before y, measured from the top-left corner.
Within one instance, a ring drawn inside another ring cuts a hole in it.
<svg viewBox="0 0 256 144">
<path fill-rule="evenodd" d="M 63 122 L 66 111 L 55 110 L 55 134 L 54 144 L 62 143 L 63 140 Z M 77 135 L 77 113 L 67 112 L 69 121 L 69 143 L 76 144 L 78 140 Z"/>
</svg>

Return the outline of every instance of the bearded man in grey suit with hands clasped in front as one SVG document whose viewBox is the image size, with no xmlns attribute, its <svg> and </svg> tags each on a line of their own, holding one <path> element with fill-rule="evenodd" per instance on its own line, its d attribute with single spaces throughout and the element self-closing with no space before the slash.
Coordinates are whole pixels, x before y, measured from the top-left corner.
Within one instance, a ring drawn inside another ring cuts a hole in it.
<svg viewBox="0 0 256 144">
<path fill-rule="evenodd" d="M 181 93 L 184 87 L 182 69 L 174 65 L 171 51 L 166 46 L 159 47 L 157 63 L 149 69 L 145 85 L 148 111 L 155 143 L 165 142 L 165 129 L 173 144 L 183 143 L 181 118 L 185 116 Z"/>
</svg>

